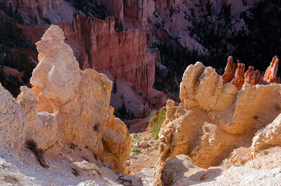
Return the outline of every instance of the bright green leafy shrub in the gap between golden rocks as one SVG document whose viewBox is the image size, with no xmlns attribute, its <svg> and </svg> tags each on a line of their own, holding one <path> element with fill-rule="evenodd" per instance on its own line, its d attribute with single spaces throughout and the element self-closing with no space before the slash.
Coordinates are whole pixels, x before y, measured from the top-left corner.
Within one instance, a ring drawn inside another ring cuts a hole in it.
<svg viewBox="0 0 281 186">
<path fill-rule="evenodd" d="M 154 133 L 155 136 L 154 139 L 158 139 L 158 133 L 160 131 L 160 128 L 162 126 L 162 123 L 164 122 L 166 117 L 166 108 L 162 108 L 158 111 L 153 110 L 150 120 L 149 120 L 149 126 L 150 126 L 150 132 Z"/>
</svg>

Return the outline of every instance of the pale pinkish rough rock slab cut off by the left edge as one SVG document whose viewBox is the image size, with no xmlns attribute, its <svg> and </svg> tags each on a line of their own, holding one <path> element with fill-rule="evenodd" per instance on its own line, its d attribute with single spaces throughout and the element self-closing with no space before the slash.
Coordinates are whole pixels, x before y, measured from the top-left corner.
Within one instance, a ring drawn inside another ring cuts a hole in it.
<svg viewBox="0 0 281 186">
<path fill-rule="evenodd" d="M 0 83 L 0 155 L 19 153 L 24 143 L 28 117 L 23 107 Z"/>
</svg>

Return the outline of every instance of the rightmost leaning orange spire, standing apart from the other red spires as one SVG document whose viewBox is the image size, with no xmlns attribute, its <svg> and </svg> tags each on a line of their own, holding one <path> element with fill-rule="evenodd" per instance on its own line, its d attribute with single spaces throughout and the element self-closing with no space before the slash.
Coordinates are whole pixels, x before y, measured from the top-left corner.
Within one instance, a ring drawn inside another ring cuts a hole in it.
<svg viewBox="0 0 281 186">
<path fill-rule="evenodd" d="M 266 69 L 263 80 L 268 83 L 280 83 L 280 77 L 277 77 L 279 59 L 277 56 L 272 58 L 270 66 Z"/>
</svg>

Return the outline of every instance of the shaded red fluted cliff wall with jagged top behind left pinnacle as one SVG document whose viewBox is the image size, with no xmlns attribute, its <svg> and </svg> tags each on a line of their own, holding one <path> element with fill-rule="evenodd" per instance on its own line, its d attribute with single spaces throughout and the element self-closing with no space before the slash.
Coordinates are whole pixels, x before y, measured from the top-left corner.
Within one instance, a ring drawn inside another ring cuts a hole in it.
<svg viewBox="0 0 281 186">
<path fill-rule="evenodd" d="M 148 94 L 154 83 L 155 56 L 146 49 L 145 33 L 139 34 L 138 30 L 116 33 L 114 17 L 100 20 L 87 18 L 81 12 L 73 17 L 71 28 L 69 23 L 59 26 L 66 38 L 77 41 L 69 44 L 80 68 L 109 69 L 114 76 L 133 83 Z"/>
</svg>

